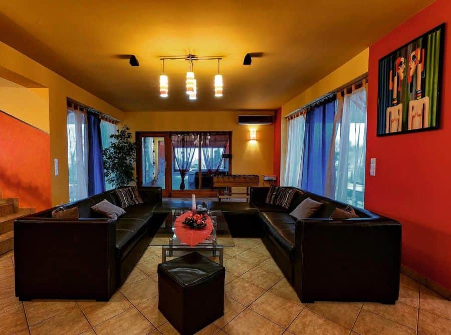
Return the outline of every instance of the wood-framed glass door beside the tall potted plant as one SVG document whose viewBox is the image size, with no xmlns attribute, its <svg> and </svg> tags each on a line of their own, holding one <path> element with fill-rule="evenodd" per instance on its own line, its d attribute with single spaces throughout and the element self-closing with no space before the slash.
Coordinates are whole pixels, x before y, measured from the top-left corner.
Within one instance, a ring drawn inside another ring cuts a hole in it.
<svg viewBox="0 0 451 335">
<path fill-rule="evenodd" d="M 171 142 L 168 132 L 136 132 L 138 186 L 161 186 L 163 197 L 171 195 Z"/>
</svg>

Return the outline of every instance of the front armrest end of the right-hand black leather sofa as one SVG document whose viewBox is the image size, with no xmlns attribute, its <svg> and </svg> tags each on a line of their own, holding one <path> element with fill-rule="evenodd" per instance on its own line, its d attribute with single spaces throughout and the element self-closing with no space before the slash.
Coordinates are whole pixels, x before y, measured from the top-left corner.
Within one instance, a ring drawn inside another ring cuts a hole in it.
<svg viewBox="0 0 451 335">
<path fill-rule="evenodd" d="M 397 300 L 398 222 L 382 217 L 306 219 L 298 221 L 295 235 L 295 288 L 302 301 Z"/>
</svg>

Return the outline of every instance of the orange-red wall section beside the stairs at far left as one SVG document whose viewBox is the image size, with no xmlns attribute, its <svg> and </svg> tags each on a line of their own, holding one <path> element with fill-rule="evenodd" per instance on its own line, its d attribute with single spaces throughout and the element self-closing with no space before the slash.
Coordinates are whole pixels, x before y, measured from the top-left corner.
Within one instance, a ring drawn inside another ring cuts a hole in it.
<svg viewBox="0 0 451 335">
<path fill-rule="evenodd" d="M 37 211 L 52 207 L 50 135 L 0 111 L 0 189 Z"/>
</svg>

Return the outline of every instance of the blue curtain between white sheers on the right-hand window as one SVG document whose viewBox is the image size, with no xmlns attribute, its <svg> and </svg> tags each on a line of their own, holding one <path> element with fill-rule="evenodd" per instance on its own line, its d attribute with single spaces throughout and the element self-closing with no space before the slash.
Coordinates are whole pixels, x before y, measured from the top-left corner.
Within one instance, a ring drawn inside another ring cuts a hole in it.
<svg viewBox="0 0 451 335">
<path fill-rule="evenodd" d="M 301 188 L 319 195 L 325 191 L 335 101 L 314 107 L 305 118 Z"/>
</svg>

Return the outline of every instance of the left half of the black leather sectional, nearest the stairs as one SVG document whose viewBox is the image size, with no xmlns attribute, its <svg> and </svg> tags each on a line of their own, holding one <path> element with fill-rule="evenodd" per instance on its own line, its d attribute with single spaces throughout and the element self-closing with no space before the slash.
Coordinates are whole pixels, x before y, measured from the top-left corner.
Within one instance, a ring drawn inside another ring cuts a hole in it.
<svg viewBox="0 0 451 335">
<path fill-rule="evenodd" d="M 104 199 L 119 206 L 114 191 L 64 205 L 78 207 L 80 219 L 54 219 L 51 208 L 16 220 L 16 296 L 108 300 L 169 212 L 191 207 L 191 202 L 163 203 L 160 187 L 138 191 L 144 203 L 126 208 L 116 222 L 91 209 Z"/>
</svg>

